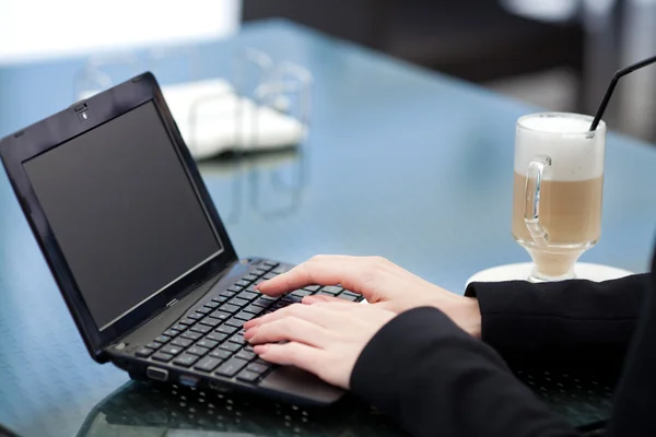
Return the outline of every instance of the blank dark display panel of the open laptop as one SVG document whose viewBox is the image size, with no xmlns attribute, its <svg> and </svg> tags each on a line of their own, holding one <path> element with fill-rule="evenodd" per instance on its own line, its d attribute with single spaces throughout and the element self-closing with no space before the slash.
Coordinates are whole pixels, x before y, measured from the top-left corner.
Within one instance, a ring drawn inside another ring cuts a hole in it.
<svg viewBox="0 0 656 437">
<path fill-rule="evenodd" d="M 152 102 L 24 167 L 101 331 L 223 250 Z"/>
</svg>

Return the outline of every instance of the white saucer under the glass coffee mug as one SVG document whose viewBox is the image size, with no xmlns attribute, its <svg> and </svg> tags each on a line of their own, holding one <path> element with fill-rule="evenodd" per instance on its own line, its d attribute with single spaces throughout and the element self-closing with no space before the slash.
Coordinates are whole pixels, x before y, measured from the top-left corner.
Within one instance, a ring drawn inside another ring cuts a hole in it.
<svg viewBox="0 0 656 437">
<path fill-rule="evenodd" d="M 531 262 L 493 267 L 476 273 L 467 280 L 465 285 L 469 285 L 470 282 L 524 281 L 528 277 L 531 270 Z M 618 277 L 633 274 L 633 272 L 628 270 L 609 265 L 590 264 L 588 262 L 577 262 L 574 267 L 574 271 L 576 272 L 577 279 L 595 282 L 617 280 Z"/>
</svg>

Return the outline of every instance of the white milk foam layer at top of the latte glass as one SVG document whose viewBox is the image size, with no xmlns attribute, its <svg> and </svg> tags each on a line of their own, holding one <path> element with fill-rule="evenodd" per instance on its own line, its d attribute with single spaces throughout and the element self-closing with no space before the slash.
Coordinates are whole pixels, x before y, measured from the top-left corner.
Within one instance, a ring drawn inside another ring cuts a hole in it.
<svg viewBox="0 0 656 437">
<path fill-rule="evenodd" d="M 515 139 L 515 173 L 526 175 L 531 160 L 551 157 L 546 180 L 587 180 L 604 175 L 606 123 L 601 121 L 588 138 L 591 117 L 551 113 L 522 117 Z"/>
</svg>

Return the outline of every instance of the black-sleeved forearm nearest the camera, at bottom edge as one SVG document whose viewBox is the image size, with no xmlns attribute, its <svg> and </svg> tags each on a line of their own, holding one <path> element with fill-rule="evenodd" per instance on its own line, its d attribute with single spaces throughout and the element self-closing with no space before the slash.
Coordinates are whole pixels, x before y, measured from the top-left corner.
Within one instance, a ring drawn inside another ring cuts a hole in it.
<svg viewBox="0 0 656 437">
<path fill-rule="evenodd" d="M 351 389 L 414 436 L 574 436 L 488 345 L 433 308 L 401 314 L 361 354 Z"/>
</svg>

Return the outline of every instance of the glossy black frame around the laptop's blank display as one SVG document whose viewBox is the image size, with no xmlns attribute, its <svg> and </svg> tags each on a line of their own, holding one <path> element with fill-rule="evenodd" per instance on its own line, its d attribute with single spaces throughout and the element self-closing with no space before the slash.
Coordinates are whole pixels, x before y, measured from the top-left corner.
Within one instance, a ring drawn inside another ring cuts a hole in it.
<svg viewBox="0 0 656 437">
<path fill-rule="evenodd" d="M 66 262 L 23 164 L 149 102 L 153 102 L 162 119 L 223 251 L 101 331 Z M 106 362 L 108 356 L 103 353 L 106 346 L 160 314 L 173 299 L 180 298 L 213 277 L 216 272 L 232 265 L 237 260 L 237 256 L 155 78 L 147 72 L 96 94 L 84 103 L 89 115 L 86 121 L 82 121 L 75 113 L 74 108 L 81 104 L 79 102 L 0 141 L 0 156 L 21 208 L 90 354 L 97 362 Z"/>
</svg>

